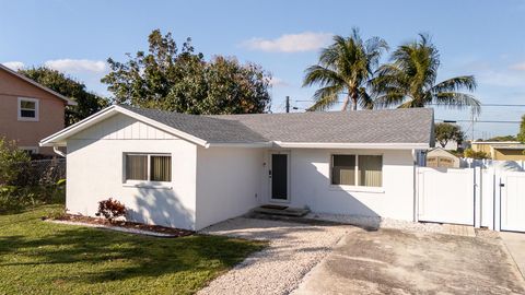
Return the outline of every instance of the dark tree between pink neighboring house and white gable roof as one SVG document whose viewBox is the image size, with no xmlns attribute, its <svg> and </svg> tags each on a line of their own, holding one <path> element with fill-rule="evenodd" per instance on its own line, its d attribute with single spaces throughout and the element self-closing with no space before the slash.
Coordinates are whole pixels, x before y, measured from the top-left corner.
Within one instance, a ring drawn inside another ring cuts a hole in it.
<svg viewBox="0 0 525 295">
<path fill-rule="evenodd" d="M 77 102 L 67 106 L 65 125 L 73 125 L 109 105 L 108 99 L 89 92 L 85 85 L 73 78 L 45 67 L 22 69 L 20 73 Z"/>
</svg>

